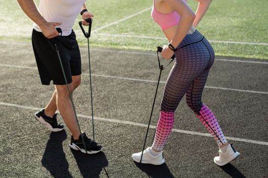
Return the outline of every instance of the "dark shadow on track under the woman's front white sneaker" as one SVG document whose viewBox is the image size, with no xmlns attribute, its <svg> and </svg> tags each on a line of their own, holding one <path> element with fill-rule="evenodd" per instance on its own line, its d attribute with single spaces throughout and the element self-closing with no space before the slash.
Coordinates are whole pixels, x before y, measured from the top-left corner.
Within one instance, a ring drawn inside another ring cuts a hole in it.
<svg viewBox="0 0 268 178">
<path fill-rule="evenodd" d="M 140 164 L 135 161 L 134 163 L 140 170 L 147 173 L 148 177 L 174 178 L 173 174 L 170 172 L 165 163 L 159 166 L 152 164 Z"/>
</svg>

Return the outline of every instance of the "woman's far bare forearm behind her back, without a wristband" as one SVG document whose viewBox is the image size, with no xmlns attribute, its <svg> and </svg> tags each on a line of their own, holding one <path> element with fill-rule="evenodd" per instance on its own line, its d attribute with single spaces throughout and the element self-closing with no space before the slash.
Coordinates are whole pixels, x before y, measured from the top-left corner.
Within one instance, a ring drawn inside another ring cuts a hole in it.
<svg viewBox="0 0 268 178">
<path fill-rule="evenodd" d="M 198 8 L 196 12 L 196 19 L 193 21 L 193 25 L 197 27 L 198 23 L 201 21 L 205 13 L 207 12 L 210 3 L 212 0 L 197 0 L 198 3 Z"/>
</svg>

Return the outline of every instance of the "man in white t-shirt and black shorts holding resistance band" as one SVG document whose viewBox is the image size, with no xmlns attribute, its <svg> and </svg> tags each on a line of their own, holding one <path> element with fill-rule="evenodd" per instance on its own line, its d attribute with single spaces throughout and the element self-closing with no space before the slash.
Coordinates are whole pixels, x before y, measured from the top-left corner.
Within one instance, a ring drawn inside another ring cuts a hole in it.
<svg viewBox="0 0 268 178">
<path fill-rule="evenodd" d="M 92 141 L 85 133 L 82 135 L 80 133 L 59 58 L 53 48 L 54 44 L 59 44 L 59 41 L 61 41 L 60 56 L 72 94 L 81 83 L 81 56 L 72 26 L 79 13 L 82 15 L 82 24 L 89 25 L 85 19 L 92 19 L 93 14 L 87 11 L 86 0 L 40 0 L 38 9 L 34 0 L 17 1 L 25 14 L 34 21 L 32 44 L 41 83 L 49 85 L 53 80 L 55 85 L 55 91 L 50 102 L 45 108 L 35 113 L 36 119 L 46 125 L 52 132 L 61 131 L 64 126 L 57 123 L 56 111 L 58 109 L 72 134 L 69 146 L 87 154 L 101 152 L 103 149 L 101 145 Z M 59 37 L 56 27 L 62 29 L 62 36 Z M 84 150 L 82 137 L 87 152 Z"/>
</svg>

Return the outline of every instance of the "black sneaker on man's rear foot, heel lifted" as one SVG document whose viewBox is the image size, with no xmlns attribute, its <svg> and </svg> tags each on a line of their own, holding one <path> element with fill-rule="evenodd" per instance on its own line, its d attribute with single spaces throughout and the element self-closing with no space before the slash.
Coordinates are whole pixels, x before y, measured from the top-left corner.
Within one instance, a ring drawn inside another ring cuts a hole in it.
<svg viewBox="0 0 268 178">
<path fill-rule="evenodd" d="M 59 132 L 64 129 L 64 126 L 62 124 L 58 124 L 57 122 L 57 113 L 55 113 L 53 117 L 47 116 L 44 114 L 43 108 L 39 112 L 36 112 L 34 116 L 37 121 L 43 125 L 46 125 L 46 127 L 52 132 Z"/>
</svg>

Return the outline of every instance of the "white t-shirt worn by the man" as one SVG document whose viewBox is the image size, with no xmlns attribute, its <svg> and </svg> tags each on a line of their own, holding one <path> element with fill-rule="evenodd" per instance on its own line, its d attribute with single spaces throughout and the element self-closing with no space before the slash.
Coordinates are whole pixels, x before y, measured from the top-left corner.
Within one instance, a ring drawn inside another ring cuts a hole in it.
<svg viewBox="0 0 268 178">
<path fill-rule="evenodd" d="M 86 0 L 40 0 L 38 9 L 47 22 L 61 22 L 56 27 L 62 29 L 62 36 L 68 36 L 85 2 Z M 34 29 L 41 32 L 36 23 Z"/>
</svg>

